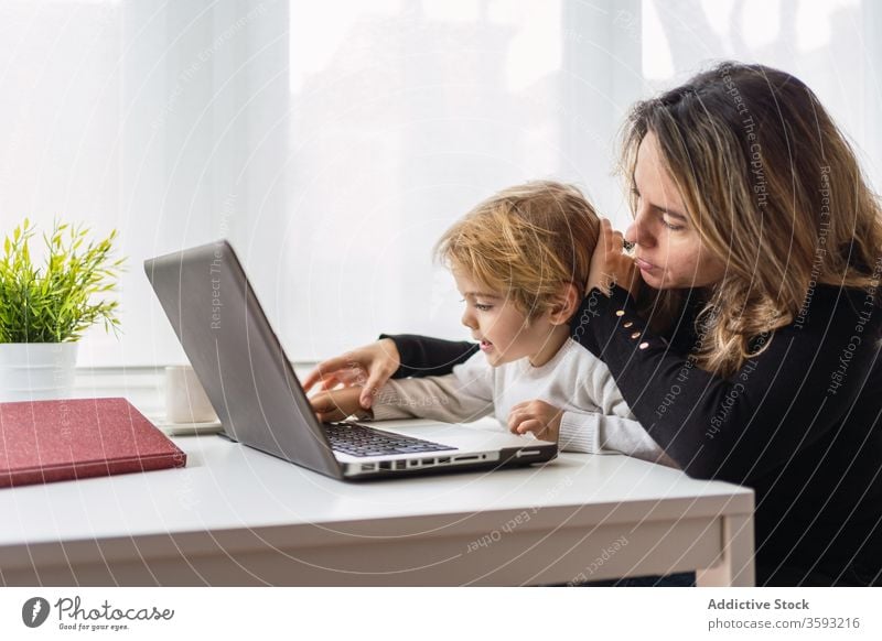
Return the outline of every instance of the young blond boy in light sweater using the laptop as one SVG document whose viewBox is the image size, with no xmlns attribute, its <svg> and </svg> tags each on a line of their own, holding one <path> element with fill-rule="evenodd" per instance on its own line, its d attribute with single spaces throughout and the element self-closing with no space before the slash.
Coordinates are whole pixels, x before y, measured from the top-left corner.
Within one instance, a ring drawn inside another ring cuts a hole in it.
<svg viewBox="0 0 882 641">
<path fill-rule="evenodd" d="M 481 350 L 453 372 L 387 382 L 372 410 L 361 388 L 319 393 L 324 421 L 475 421 L 494 414 L 517 434 L 571 452 L 621 452 L 675 464 L 635 420 L 606 366 L 569 337 L 600 220 L 578 188 L 541 181 L 477 205 L 439 240 L 463 295 L 462 323 Z"/>
</svg>

